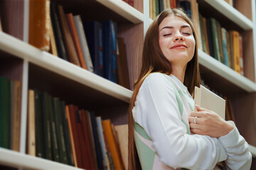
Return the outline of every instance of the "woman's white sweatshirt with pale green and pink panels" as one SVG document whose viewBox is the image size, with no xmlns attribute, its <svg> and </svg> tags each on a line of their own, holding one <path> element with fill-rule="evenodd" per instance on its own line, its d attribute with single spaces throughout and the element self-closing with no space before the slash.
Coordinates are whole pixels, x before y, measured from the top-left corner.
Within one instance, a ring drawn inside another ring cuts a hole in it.
<svg viewBox="0 0 256 170">
<path fill-rule="evenodd" d="M 179 103 L 170 81 L 184 94 Z M 150 137 L 160 162 L 174 169 L 213 169 L 226 160 L 228 169 L 250 169 L 252 155 L 234 123 L 233 131 L 223 137 L 190 135 L 188 115 L 193 105 L 188 89 L 174 75 L 152 73 L 144 80 L 132 114 Z"/>
</svg>

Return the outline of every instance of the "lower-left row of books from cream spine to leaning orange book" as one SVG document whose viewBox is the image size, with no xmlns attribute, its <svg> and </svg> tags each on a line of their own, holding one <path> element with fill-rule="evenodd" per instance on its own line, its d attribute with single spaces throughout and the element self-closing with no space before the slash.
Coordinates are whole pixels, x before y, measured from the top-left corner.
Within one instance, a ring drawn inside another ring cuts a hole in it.
<svg viewBox="0 0 256 170">
<path fill-rule="evenodd" d="M 27 154 L 82 169 L 124 169 L 114 125 L 93 111 L 30 89 L 27 125 Z"/>
</svg>

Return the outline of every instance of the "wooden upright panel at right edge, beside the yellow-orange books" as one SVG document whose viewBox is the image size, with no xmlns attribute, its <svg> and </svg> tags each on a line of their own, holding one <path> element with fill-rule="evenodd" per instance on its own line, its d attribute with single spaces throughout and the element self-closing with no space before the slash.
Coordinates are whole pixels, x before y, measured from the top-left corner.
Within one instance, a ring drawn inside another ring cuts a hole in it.
<svg viewBox="0 0 256 170">
<path fill-rule="evenodd" d="M 255 82 L 255 60 L 252 30 L 241 33 L 245 77 Z"/>
</svg>

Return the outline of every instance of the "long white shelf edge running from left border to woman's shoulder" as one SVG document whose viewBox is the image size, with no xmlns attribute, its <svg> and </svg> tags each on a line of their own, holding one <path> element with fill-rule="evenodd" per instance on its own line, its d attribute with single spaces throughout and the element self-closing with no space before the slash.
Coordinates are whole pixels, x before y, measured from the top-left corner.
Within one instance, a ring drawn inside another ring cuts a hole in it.
<svg viewBox="0 0 256 170">
<path fill-rule="evenodd" d="M 132 91 L 0 32 L 0 50 L 129 103 Z"/>
</svg>

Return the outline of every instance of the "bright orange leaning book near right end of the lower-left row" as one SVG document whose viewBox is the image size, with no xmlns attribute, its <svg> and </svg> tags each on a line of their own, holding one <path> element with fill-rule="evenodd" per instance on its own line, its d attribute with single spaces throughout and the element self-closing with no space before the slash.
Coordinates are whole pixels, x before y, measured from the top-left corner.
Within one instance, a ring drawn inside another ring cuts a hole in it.
<svg viewBox="0 0 256 170">
<path fill-rule="evenodd" d="M 115 169 L 124 169 L 122 160 L 119 157 L 117 142 L 114 139 L 114 133 L 112 132 L 112 124 L 110 119 L 102 120 L 102 124 L 104 126 L 107 142 L 110 145 L 110 152 L 112 154 L 114 168 Z"/>
</svg>

